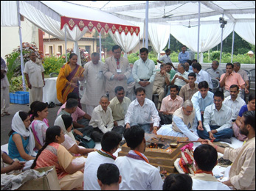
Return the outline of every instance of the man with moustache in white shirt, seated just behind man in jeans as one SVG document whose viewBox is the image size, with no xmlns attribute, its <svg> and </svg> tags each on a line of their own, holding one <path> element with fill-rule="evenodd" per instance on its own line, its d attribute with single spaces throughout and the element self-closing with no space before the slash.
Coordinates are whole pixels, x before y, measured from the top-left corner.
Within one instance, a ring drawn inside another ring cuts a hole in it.
<svg viewBox="0 0 256 191">
<path fill-rule="evenodd" d="M 241 107 L 246 105 L 246 102 L 238 96 L 238 85 L 231 85 L 229 88 L 229 93 L 230 95 L 225 98 L 223 104 L 232 109 L 232 122 L 235 122 L 236 118 L 238 118 Z"/>
</svg>

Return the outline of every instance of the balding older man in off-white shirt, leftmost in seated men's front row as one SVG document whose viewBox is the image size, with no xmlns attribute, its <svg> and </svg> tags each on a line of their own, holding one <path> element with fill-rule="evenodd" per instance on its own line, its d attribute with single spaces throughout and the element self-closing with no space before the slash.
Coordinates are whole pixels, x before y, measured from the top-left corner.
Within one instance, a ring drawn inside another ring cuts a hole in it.
<svg viewBox="0 0 256 191">
<path fill-rule="evenodd" d="M 112 110 L 109 105 L 108 97 L 103 95 L 100 98 L 100 105 L 94 108 L 94 111 L 91 115 L 91 120 L 89 126 L 94 128 L 94 131 L 91 133 L 91 138 L 95 142 L 99 142 L 103 134 L 108 131 L 115 131 L 119 134 L 123 134 L 125 130 L 123 126 L 114 126 Z"/>
</svg>

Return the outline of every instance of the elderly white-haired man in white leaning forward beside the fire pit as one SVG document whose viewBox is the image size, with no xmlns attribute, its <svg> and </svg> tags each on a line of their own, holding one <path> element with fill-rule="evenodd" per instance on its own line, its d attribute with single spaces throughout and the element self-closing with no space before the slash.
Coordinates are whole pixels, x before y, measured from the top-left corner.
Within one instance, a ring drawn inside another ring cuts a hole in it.
<svg viewBox="0 0 256 191">
<path fill-rule="evenodd" d="M 156 134 L 168 135 L 173 137 L 188 137 L 189 140 L 200 140 L 196 134 L 195 123 L 196 112 L 190 100 L 184 101 L 182 107 L 173 113 L 173 123 L 162 126 Z"/>
</svg>

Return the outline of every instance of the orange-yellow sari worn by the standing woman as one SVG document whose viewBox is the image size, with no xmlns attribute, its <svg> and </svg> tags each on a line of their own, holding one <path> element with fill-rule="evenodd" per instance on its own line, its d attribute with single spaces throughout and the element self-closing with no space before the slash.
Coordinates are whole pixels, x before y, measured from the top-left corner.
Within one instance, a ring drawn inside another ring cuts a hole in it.
<svg viewBox="0 0 256 191">
<path fill-rule="evenodd" d="M 67 85 L 66 82 L 72 82 L 72 79 L 77 76 L 83 77 L 83 71 L 84 69 L 80 65 L 76 65 L 76 68 L 72 71 L 69 66 L 69 62 L 67 62 L 66 65 L 63 65 L 63 67 L 60 68 L 60 73 L 58 75 L 58 79 L 56 82 L 56 89 L 57 98 L 62 104 L 66 102 L 66 98 L 69 95 L 69 93 L 79 93 L 78 87 L 74 88 L 71 85 Z"/>
</svg>

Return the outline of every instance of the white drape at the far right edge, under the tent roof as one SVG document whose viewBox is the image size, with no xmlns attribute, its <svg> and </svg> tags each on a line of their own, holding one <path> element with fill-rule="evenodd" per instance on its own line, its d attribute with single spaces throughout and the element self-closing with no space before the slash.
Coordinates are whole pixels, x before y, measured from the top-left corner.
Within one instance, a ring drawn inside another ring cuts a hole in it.
<svg viewBox="0 0 256 191">
<path fill-rule="evenodd" d="M 243 40 L 255 45 L 255 21 L 238 21 L 235 25 L 235 32 L 238 33 Z"/>
</svg>

